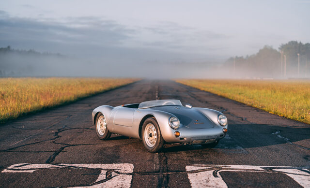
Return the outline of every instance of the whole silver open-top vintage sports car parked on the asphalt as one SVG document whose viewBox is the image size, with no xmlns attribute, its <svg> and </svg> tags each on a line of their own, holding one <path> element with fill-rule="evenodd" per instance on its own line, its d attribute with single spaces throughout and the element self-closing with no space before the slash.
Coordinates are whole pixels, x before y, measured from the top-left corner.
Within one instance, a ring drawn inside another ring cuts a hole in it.
<svg viewBox="0 0 310 188">
<path fill-rule="evenodd" d="M 103 105 L 93 110 L 92 118 L 99 139 L 106 140 L 111 133 L 142 139 L 149 152 L 157 152 L 164 143 L 215 147 L 228 127 L 222 113 L 183 106 L 179 100 Z"/>
</svg>

